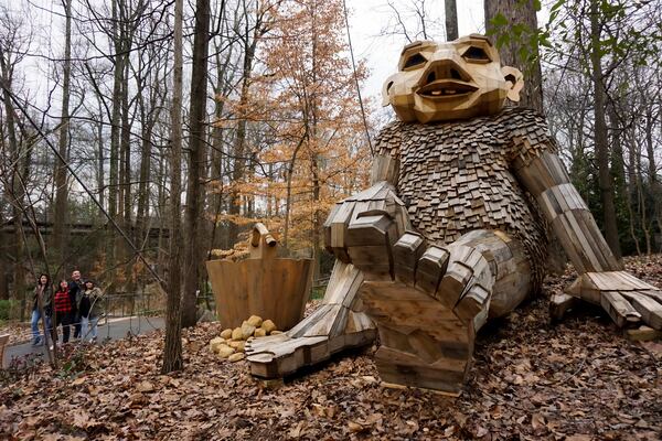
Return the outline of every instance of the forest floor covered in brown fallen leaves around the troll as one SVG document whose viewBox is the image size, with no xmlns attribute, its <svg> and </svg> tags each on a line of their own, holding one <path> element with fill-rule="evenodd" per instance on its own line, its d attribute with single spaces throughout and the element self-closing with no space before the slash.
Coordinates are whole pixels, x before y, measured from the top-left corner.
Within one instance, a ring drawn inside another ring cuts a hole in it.
<svg viewBox="0 0 662 441">
<path fill-rule="evenodd" d="M 662 256 L 627 267 L 662 288 Z M 6 373 L 0 439 L 662 439 L 662 344 L 626 340 L 596 309 L 549 324 L 549 295 L 573 279 L 549 278 L 481 331 L 456 399 L 381 387 L 374 347 L 265 388 L 245 361 L 210 352 L 221 327 L 206 323 L 184 331 L 185 368 L 172 375 L 159 374 L 160 331 L 70 348 L 57 372 Z"/>
</svg>

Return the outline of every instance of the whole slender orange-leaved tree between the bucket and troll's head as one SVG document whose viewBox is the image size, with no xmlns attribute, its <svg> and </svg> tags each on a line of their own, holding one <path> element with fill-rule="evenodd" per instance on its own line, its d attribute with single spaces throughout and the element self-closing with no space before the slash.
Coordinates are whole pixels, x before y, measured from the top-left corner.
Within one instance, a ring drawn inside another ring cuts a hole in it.
<svg viewBox="0 0 662 441">
<path fill-rule="evenodd" d="M 346 50 L 342 17 L 340 1 L 285 2 L 260 56 L 267 68 L 256 78 L 260 105 L 250 107 L 253 119 L 273 121 L 261 158 L 277 158 L 285 168 L 285 185 L 271 190 L 285 200 L 284 244 L 309 248 L 316 275 L 321 223 L 340 194 L 364 182 L 359 164 L 367 160 L 353 71 L 340 56 Z M 364 77 L 362 65 L 356 75 Z M 350 185 L 349 176 L 355 180 Z M 264 189 L 264 181 L 258 185 Z"/>
</svg>

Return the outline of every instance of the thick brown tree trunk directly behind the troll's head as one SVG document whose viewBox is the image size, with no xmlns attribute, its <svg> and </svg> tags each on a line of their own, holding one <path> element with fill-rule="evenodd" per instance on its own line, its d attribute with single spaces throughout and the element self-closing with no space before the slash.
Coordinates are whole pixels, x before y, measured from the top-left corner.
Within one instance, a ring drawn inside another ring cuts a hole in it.
<svg viewBox="0 0 662 441">
<path fill-rule="evenodd" d="M 510 32 L 510 29 L 516 24 L 524 24 L 530 31 L 537 29 L 537 18 L 533 0 L 485 0 L 485 31 L 488 35 L 495 41 L 499 35 Z M 494 28 L 492 19 L 502 14 L 508 20 L 508 26 Z M 501 64 L 513 66 L 524 73 L 525 85 L 520 94 L 520 106 L 528 107 L 544 114 L 543 108 L 543 77 L 541 74 L 541 63 L 537 54 L 531 54 L 533 63 L 527 64 L 526 60 L 520 57 L 522 42 L 511 41 L 503 47 L 499 47 L 501 54 Z"/>
</svg>

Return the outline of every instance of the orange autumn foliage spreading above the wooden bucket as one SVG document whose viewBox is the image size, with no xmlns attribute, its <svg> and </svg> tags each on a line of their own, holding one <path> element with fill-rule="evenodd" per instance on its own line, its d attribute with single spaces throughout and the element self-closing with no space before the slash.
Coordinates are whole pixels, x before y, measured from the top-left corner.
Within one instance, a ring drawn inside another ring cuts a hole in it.
<svg viewBox="0 0 662 441">
<path fill-rule="evenodd" d="M 257 220 L 281 233 L 290 249 L 319 248 L 321 224 L 338 201 L 367 184 L 367 148 L 354 72 L 345 43 L 342 2 L 284 1 L 258 44 L 260 64 L 231 127 L 248 121 L 253 170 L 231 182 L 252 213 L 217 220 Z M 366 76 L 363 64 L 359 80 Z M 248 216 L 250 214 L 250 216 Z M 286 225 L 287 224 L 287 225 Z"/>
</svg>

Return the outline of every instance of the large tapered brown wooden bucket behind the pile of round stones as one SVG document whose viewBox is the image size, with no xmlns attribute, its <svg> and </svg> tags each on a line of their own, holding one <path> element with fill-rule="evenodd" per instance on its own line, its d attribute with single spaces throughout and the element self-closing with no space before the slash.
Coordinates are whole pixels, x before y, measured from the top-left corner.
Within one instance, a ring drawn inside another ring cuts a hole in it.
<svg viewBox="0 0 662 441">
<path fill-rule="evenodd" d="M 250 315 L 259 315 L 285 331 L 303 318 L 311 259 L 210 260 L 206 268 L 224 327 L 241 326 Z"/>
</svg>

